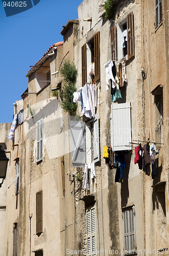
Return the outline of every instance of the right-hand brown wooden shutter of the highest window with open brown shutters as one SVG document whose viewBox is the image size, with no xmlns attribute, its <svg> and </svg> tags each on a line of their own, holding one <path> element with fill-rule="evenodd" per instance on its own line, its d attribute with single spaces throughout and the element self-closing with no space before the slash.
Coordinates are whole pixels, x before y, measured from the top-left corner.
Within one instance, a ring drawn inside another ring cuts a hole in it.
<svg viewBox="0 0 169 256">
<path fill-rule="evenodd" d="M 134 56 L 134 17 L 133 12 L 127 15 L 127 55 L 128 59 Z"/>
</svg>

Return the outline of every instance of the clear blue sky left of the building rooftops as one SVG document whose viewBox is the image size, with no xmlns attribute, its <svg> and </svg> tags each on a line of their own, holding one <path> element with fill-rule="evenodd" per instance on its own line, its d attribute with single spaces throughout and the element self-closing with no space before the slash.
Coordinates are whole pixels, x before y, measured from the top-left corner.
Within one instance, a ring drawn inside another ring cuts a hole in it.
<svg viewBox="0 0 169 256">
<path fill-rule="evenodd" d="M 81 2 L 41 0 L 27 11 L 6 17 L 0 1 L 0 123 L 12 122 L 13 103 L 28 86 L 27 71 L 52 44 L 63 40 L 62 26 L 78 18 Z"/>
</svg>

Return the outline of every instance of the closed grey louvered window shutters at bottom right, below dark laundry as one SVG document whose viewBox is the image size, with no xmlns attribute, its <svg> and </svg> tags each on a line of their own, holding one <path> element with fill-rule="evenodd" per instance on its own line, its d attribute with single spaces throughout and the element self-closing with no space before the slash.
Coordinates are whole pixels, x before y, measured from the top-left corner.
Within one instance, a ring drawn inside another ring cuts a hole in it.
<svg viewBox="0 0 169 256">
<path fill-rule="evenodd" d="M 126 253 L 135 250 L 135 228 L 134 228 L 134 211 L 133 209 L 123 211 L 124 223 L 124 250 Z"/>
</svg>

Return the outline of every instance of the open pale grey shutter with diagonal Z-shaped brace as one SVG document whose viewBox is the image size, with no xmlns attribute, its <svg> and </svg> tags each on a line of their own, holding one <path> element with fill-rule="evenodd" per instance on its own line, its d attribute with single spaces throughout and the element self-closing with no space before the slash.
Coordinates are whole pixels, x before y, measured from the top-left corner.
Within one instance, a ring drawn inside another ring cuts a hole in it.
<svg viewBox="0 0 169 256">
<path fill-rule="evenodd" d="M 70 146 L 73 167 L 86 163 L 85 122 L 70 121 Z"/>
</svg>

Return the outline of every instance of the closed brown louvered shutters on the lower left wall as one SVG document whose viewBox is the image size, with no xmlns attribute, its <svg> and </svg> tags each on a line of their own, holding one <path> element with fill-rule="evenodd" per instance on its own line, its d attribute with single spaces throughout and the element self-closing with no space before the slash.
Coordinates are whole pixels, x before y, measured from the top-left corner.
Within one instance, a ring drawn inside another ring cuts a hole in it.
<svg viewBox="0 0 169 256">
<path fill-rule="evenodd" d="M 36 233 L 42 232 L 42 190 L 36 193 Z"/>
</svg>

